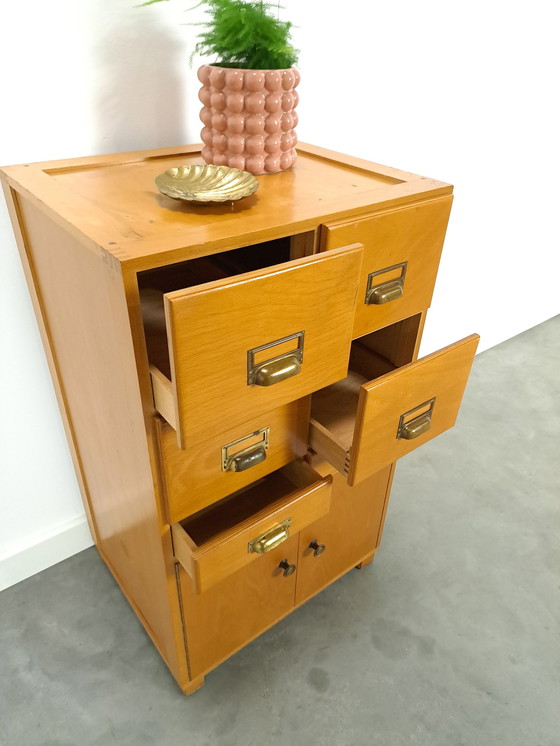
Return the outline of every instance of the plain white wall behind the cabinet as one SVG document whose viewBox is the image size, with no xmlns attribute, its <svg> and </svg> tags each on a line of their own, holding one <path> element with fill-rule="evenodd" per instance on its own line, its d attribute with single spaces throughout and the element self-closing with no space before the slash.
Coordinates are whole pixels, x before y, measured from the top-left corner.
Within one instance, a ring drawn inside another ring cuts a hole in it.
<svg viewBox="0 0 560 746">
<path fill-rule="evenodd" d="M 200 14 L 134 3 L 4 10 L 0 163 L 198 141 L 183 24 Z M 552 4 L 283 5 L 302 50 L 300 139 L 455 184 L 423 352 L 471 331 L 486 349 L 559 313 Z M 1 588 L 90 539 L 3 205 L 0 247 Z"/>
</svg>

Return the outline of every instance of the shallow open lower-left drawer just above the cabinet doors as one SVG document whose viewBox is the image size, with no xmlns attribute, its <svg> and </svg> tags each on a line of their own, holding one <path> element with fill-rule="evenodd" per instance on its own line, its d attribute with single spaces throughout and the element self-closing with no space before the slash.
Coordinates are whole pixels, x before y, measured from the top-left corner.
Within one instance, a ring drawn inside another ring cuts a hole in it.
<svg viewBox="0 0 560 746">
<path fill-rule="evenodd" d="M 294 461 L 171 527 L 175 556 L 203 593 L 325 515 L 332 476 Z"/>
</svg>

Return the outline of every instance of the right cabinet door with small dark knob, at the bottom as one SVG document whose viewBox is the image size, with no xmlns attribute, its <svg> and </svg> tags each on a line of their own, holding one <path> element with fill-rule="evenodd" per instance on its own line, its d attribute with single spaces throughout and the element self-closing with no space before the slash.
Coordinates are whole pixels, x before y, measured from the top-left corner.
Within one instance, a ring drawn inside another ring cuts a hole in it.
<svg viewBox="0 0 560 746">
<path fill-rule="evenodd" d="M 300 533 L 296 605 L 377 549 L 391 473 L 392 467 L 386 467 L 355 487 L 349 487 L 342 475 L 333 476 L 330 512 Z"/>
</svg>

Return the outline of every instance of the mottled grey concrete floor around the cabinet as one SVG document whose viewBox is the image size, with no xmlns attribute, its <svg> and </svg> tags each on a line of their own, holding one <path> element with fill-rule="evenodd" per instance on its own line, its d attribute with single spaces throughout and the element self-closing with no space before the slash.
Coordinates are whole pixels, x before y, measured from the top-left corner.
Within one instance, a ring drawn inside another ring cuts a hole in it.
<svg viewBox="0 0 560 746">
<path fill-rule="evenodd" d="M 185 698 L 95 549 L 0 594 L 2 746 L 560 744 L 560 316 L 479 355 L 383 545 Z"/>
</svg>

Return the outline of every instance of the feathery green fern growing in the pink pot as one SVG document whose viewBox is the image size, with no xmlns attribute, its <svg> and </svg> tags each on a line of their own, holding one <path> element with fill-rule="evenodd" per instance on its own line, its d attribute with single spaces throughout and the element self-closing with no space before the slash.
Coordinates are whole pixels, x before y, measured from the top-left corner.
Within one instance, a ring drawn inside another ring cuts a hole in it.
<svg viewBox="0 0 560 746">
<path fill-rule="evenodd" d="M 167 0 L 148 0 L 153 5 Z M 278 6 L 250 0 L 202 0 L 209 20 L 199 25 L 194 54 L 217 55 L 216 64 L 249 70 L 293 67 L 298 52 L 291 43 L 292 24 L 273 12 Z M 192 59 L 192 57 L 191 57 Z"/>
</svg>

